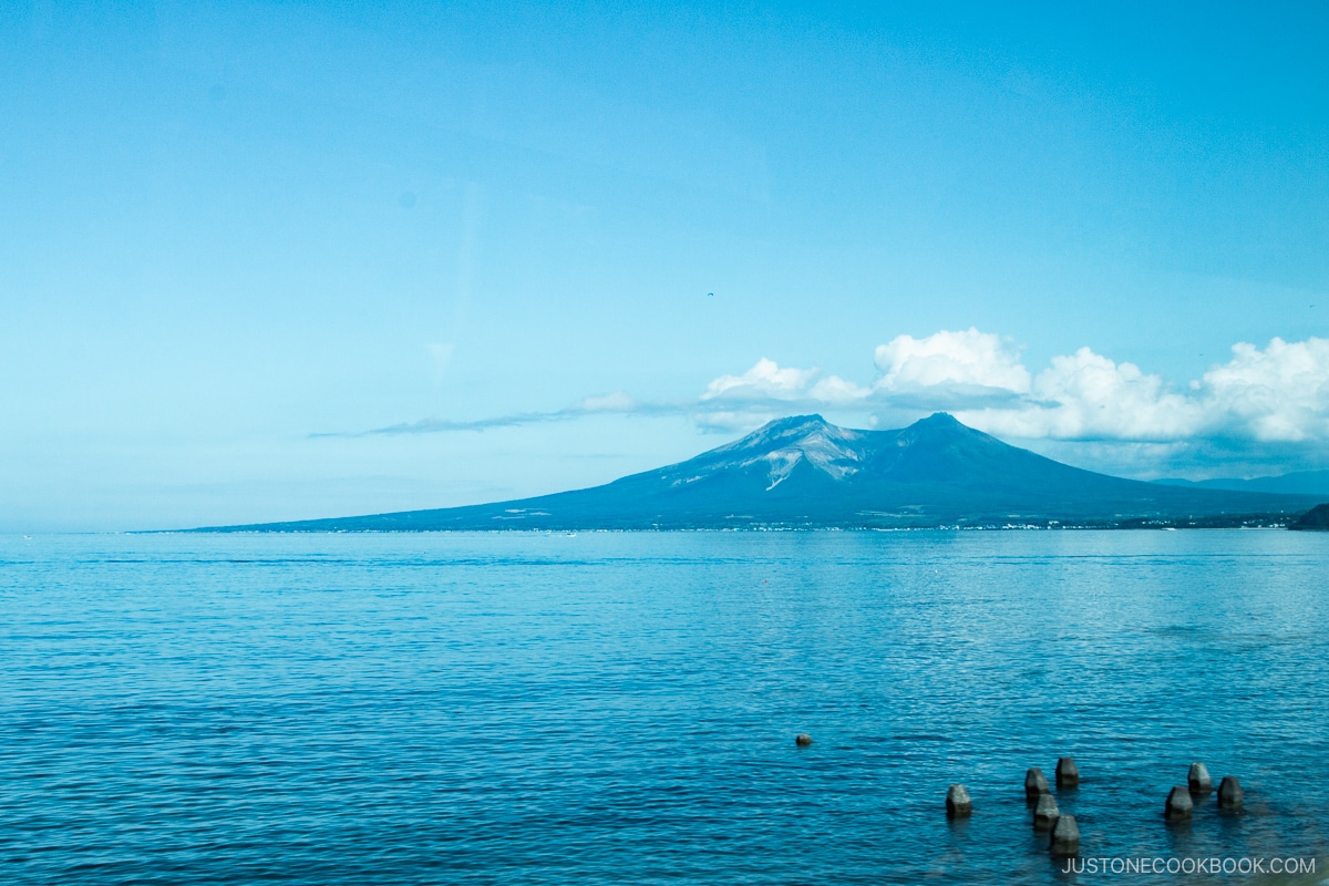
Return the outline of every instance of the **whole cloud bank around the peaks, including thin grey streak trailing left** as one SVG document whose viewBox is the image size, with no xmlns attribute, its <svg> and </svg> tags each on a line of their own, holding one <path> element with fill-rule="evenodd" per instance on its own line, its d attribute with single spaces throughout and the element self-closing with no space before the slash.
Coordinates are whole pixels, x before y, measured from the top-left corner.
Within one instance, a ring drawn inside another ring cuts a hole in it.
<svg viewBox="0 0 1329 886">
<path fill-rule="evenodd" d="M 315 436 L 474 432 L 602 414 L 686 417 L 723 433 L 805 412 L 902 426 L 946 410 L 1045 454 L 1135 476 L 1205 474 L 1219 464 L 1324 466 L 1329 442 L 1329 339 L 1273 339 L 1263 348 L 1241 341 L 1227 363 L 1180 385 L 1087 347 L 1030 368 L 1015 343 L 975 328 L 900 335 L 872 356 L 876 377 L 864 383 L 763 357 L 691 399 L 643 401 L 614 392 L 552 412 Z"/>
</svg>

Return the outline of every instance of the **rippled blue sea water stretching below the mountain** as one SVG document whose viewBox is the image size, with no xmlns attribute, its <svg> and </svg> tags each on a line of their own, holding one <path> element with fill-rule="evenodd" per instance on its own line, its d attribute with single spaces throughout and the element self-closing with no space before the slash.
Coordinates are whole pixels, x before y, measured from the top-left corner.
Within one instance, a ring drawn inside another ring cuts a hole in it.
<svg viewBox="0 0 1329 886">
<path fill-rule="evenodd" d="M 4 537 L 0 879 L 1107 882 L 1027 824 L 1063 754 L 1084 855 L 1324 878 L 1326 576 L 1282 531 Z M 1245 810 L 1167 825 L 1191 760 Z"/>
</svg>

